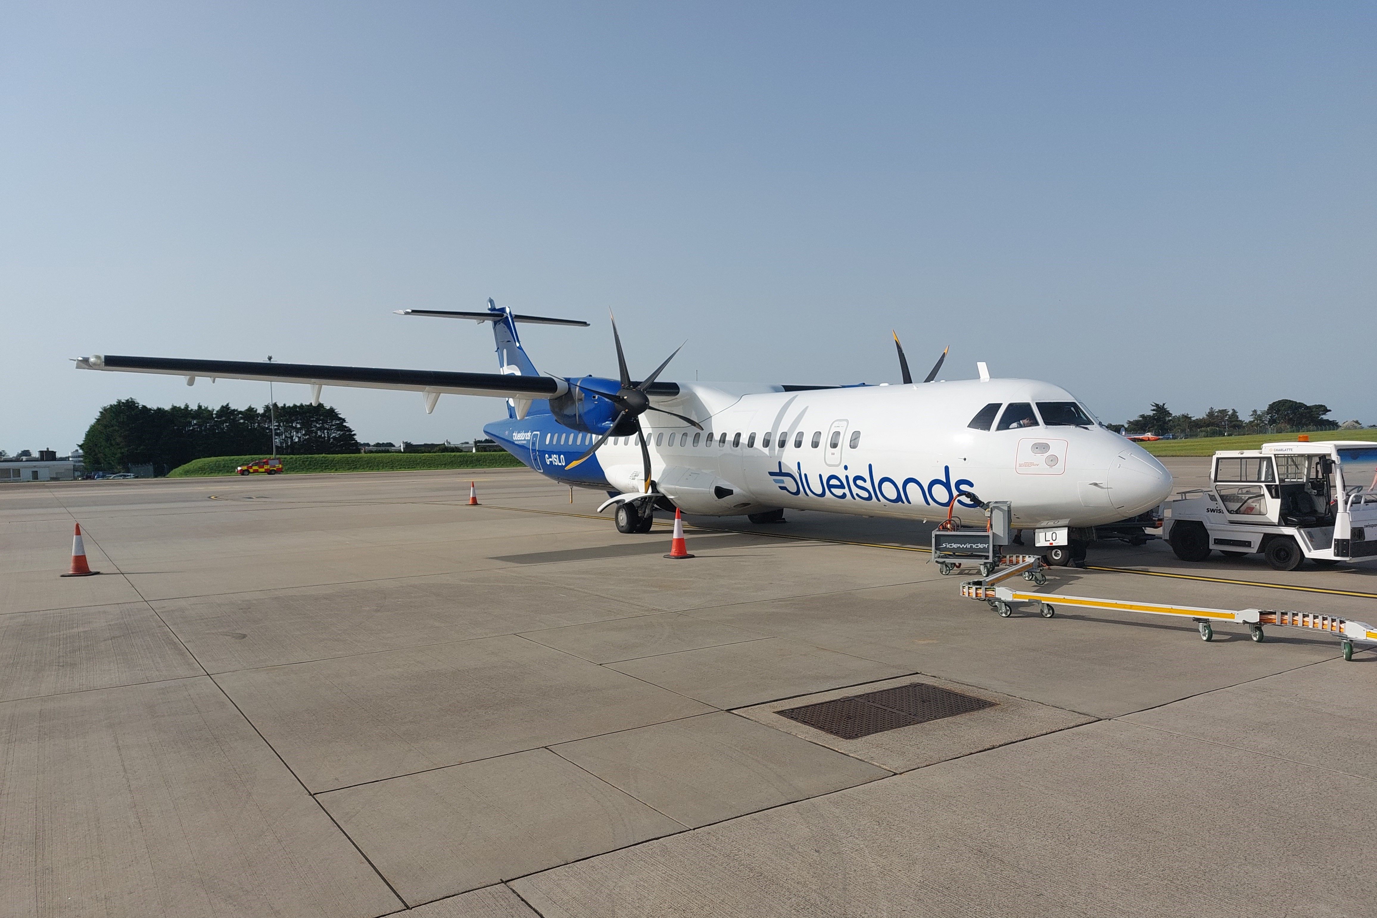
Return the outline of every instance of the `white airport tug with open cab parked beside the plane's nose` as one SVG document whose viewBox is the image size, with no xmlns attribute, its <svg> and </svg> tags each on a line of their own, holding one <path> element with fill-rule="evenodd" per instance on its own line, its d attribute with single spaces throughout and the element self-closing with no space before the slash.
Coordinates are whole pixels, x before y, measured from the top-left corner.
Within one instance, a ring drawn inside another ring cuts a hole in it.
<svg viewBox="0 0 1377 918">
<path fill-rule="evenodd" d="M 1220 450 L 1210 486 L 1162 504 L 1162 535 L 1183 562 L 1261 552 L 1278 571 L 1377 560 L 1377 443 L 1264 443 Z"/>
</svg>

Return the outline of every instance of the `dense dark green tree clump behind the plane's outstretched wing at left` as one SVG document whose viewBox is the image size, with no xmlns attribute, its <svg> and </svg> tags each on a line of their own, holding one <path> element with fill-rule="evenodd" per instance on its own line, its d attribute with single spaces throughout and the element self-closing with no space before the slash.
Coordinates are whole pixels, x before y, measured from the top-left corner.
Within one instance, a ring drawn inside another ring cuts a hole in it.
<svg viewBox="0 0 1377 918">
<path fill-rule="evenodd" d="M 151 464 L 160 473 L 207 456 L 248 456 L 273 451 L 269 406 L 262 410 L 222 405 L 149 407 L 124 399 L 101 409 L 81 440 L 85 467 L 123 472 Z M 329 405 L 278 405 L 277 451 L 286 456 L 357 453 L 358 440 Z"/>
</svg>

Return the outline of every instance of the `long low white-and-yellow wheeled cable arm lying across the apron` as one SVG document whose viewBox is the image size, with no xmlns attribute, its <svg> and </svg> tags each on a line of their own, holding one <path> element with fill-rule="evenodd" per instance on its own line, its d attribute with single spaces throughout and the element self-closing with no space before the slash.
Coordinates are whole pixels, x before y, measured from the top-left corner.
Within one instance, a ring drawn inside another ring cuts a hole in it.
<svg viewBox="0 0 1377 918">
<path fill-rule="evenodd" d="M 1013 573 L 1016 573 L 1016 568 L 1009 568 L 1008 574 Z M 1004 577 L 1000 579 L 1004 579 Z M 980 581 L 963 584 L 961 596 L 986 600 L 1002 618 L 1008 618 L 1013 614 L 1012 603 L 1036 603 L 1042 618 L 1052 618 L 1056 614 L 1056 608 L 1049 600 L 1053 599 L 1058 606 L 1070 606 L 1074 608 L 1106 608 L 1118 612 L 1142 612 L 1146 615 L 1190 618 L 1199 628 L 1201 640 L 1206 641 L 1215 640 L 1215 622 L 1238 622 L 1241 625 L 1248 625 L 1249 637 L 1252 637 L 1256 643 L 1261 643 L 1265 637 L 1263 633 L 1264 625 L 1299 628 L 1308 632 L 1326 632 L 1338 637 L 1344 659 L 1354 658 L 1355 641 L 1377 644 L 1377 628 L 1373 625 L 1338 618 L 1336 615 L 1319 615 L 1315 612 L 1294 612 L 1265 608 L 1203 608 L 1198 606 L 1162 606 L 1158 603 L 1096 599 L 1092 596 L 1026 593 L 1009 589 L 1008 586 L 985 585 Z"/>
</svg>

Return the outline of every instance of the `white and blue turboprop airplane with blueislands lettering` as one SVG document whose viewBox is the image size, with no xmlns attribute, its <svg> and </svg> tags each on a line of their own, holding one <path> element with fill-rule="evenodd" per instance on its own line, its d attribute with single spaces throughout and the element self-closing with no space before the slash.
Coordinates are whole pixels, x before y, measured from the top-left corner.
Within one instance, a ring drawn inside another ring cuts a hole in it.
<svg viewBox="0 0 1377 918">
<path fill-rule="evenodd" d="M 518 322 L 587 326 L 518 315 L 401 310 L 402 315 L 490 322 L 501 373 L 446 373 L 306 363 L 90 356 L 78 369 L 186 377 L 410 389 L 432 412 L 443 394 L 508 399 L 483 431 L 537 472 L 607 491 L 622 533 L 649 531 L 651 512 L 782 522 L 785 509 L 939 522 L 1009 501 L 1012 523 L 1075 530 L 1133 517 L 1170 491 L 1170 473 L 1106 429 L 1070 392 L 1034 380 L 903 384 L 742 385 L 633 381 L 613 322 L 618 378 L 544 376 L 522 350 Z M 895 337 L 895 345 L 899 344 Z M 677 350 L 675 351 L 677 354 Z M 979 498 L 976 498 L 979 495 Z M 983 517 L 982 517 L 983 519 Z M 969 520 L 975 522 L 975 520 Z M 1080 548 L 1080 546 L 1077 546 Z"/>
</svg>

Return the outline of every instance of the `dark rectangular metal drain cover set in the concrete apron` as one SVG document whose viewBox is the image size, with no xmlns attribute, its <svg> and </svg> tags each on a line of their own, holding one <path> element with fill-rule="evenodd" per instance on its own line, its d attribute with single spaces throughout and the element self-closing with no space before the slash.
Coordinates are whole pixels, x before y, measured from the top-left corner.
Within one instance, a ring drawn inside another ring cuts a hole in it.
<svg viewBox="0 0 1377 918">
<path fill-rule="evenodd" d="M 983 698 L 972 698 L 924 683 L 910 683 L 777 713 L 840 739 L 859 739 L 887 729 L 913 727 L 993 706 L 994 702 Z"/>
</svg>

